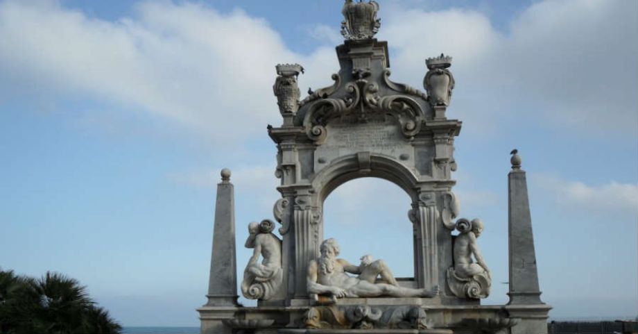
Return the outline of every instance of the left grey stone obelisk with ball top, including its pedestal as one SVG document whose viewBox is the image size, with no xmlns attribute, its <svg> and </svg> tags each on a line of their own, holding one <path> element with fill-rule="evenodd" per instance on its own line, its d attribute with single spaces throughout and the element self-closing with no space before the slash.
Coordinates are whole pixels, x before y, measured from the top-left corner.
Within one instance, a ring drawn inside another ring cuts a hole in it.
<svg viewBox="0 0 638 334">
<path fill-rule="evenodd" d="M 223 322 L 232 319 L 239 306 L 236 269 L 234 187 L 230 183 L 230 170 L 222 169 L 221 183 L 217 184 L 208 301 L 198 308 L 201 333 L 232 333 Z"/>
</svg>

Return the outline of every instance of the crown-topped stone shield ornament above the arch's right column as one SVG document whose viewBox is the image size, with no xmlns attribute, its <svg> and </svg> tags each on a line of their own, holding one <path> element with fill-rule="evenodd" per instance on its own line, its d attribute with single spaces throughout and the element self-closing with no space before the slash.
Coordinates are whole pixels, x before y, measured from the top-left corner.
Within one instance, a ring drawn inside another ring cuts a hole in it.
<svg viewBox="0 0 638 334">
<path fill-rule="evenodd" d="M 454 76 L 449 72 L 452 58 L 441 56 L 425 60 L 429 69 L 423 79 L 423 86 L 429 94 L 431 106 L 449 106 L 454 89 Z"/>
</svg>

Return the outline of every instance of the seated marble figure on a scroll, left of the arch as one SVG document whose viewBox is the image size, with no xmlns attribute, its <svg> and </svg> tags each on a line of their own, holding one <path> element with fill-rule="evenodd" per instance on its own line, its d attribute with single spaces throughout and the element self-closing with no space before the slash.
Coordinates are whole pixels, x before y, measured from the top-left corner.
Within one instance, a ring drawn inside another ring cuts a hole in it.
<svg viewBox="0 0 638 334">
<path fill-rule="evenodd" d="M 241 293 L 247 299 L 268 300 L 282 287 L 282 240 L 272 232 L 275 223 L 264 219 L 248 224 L 245 247 L 255 249 L 243 271 Z M 264 260 L 258 262 L 259 256 Z"/>
</svg>

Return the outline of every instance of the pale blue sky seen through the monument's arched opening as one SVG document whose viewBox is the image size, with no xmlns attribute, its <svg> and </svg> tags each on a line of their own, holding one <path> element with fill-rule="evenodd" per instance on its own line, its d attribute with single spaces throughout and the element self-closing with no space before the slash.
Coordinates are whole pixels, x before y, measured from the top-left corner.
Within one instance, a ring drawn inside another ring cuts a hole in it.
<svg viewBox="0 0 638 334">
<path fill-rule="evenodd" d="M 397 278 L 413 278 L 411 197 L 381 178 L 356 178 L 338 185 L 323 202 L 324 238 L 334 237 L 340 258 L 358 265 L 361 256 L 385 260 Z"/>
</svg>

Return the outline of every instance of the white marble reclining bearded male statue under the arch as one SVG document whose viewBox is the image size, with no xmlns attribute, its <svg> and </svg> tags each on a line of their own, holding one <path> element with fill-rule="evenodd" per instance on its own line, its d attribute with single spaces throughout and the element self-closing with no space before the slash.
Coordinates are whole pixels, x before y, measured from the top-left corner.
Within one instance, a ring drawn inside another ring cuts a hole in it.
<svg viewBox="0 0 638 334">
<path fill-rule="evenodd" d="M 371 256 L 363 256 L 361 265 L 351 265 L 337 258 L 339 245 L 330 238 L 320 246 L 320 257 L 311 260 L 308 267 L 307 288 L 311 294 L 330 294 L 336 298 L 357 297 L 434 297 L 438 287 L 411 289 L 401 287 L 383 260 L 372 262 Z M 350 276 L 346 273 L 357 274 Z M 377 283 L 377 277 L 381 281 Z"/>
</svg>

